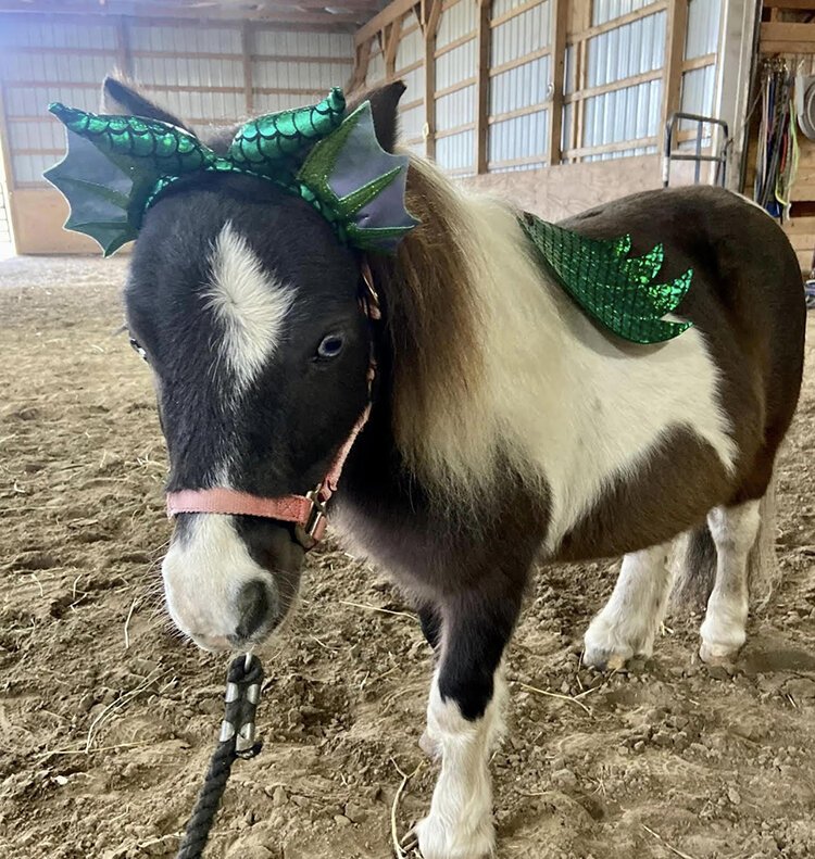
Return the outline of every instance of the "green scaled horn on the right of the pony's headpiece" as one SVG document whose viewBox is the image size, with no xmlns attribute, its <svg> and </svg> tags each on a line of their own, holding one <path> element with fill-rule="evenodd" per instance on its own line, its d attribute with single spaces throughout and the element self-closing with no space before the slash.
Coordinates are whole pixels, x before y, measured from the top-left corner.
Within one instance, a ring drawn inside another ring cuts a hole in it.
<svg viewBox="0 0 815 859">
<path fill-rule="evenodd" d="M 346 99 L 335 87 L 310 108 L 272 113 L 243 125 L 229 147 L 227 157 L 252 173 L 278 168 L 280 161 L 303 154 L 342 122 Z"/>
</svg>

